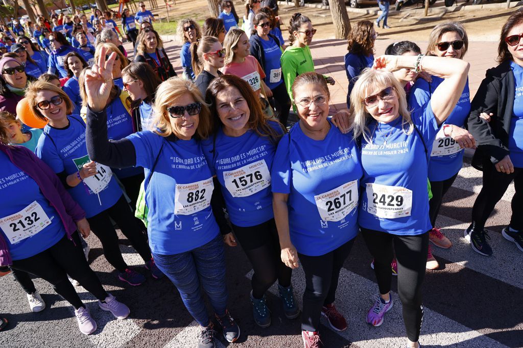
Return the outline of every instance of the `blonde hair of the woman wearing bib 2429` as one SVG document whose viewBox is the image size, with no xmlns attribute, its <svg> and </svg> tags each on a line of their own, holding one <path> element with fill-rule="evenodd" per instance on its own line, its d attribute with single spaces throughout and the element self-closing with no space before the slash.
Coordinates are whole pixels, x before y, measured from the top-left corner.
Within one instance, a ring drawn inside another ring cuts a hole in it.
<svg viewBox="0 0 523 348">
<path fill-rule="evenodd" d="M 369 95 L 381 91 L 387 87 L 392 87 L 399 101 L 399 113 L 402 117 L 402 128 L 405 134 L 410 135 L 414 130 L 411 113 L 408 111 L 405 90 L 400 82 L 389 71 L 367 68 L 354 84 L 350 92 L 350 114 L 353 117 L 352 130 L 354 138 L 363 135 L 365 141 L 372 143 L 372 135 L 368 127 L 369 121 L 373 118 L 363 105 L 363 100 Z"/>
</svg>

